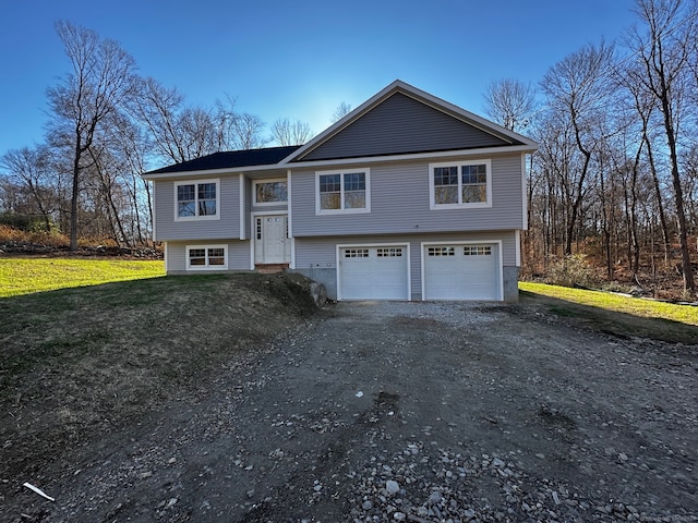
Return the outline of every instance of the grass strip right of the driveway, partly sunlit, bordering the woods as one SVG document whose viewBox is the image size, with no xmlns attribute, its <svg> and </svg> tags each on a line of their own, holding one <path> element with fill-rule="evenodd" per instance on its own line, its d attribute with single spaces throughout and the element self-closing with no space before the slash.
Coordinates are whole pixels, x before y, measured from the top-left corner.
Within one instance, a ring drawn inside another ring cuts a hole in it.
<svg viewBox="0 0 698 523">
<path fill-rule="evenodd" d="M 607 292 L 519 282 L 522 301 L 535 302 L 564 318 L 622 337 L 698 343 L 698 308 Z"/>
</svg>

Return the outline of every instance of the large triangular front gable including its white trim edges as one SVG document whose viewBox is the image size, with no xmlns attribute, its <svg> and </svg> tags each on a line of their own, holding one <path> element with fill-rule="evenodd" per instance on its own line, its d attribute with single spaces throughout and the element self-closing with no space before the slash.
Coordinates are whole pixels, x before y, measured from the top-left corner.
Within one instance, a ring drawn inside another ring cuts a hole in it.
<svg viewBox="0 0 698 523">
<path fill-rule="evenodd" d="M 524 136 L 396 81 L 285 161 L 532 146 Z"/>
</svg>

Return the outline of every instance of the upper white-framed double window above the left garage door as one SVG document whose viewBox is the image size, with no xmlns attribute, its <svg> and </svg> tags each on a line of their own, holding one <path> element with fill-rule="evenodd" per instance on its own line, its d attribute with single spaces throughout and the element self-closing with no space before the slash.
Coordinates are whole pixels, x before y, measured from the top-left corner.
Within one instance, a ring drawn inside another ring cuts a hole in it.
<svg viewBox="0 0 698 523">
<path fill-rule="evenodd" d="M 369 212 L 369 169 L 318 172 L 315 180 L 315 212 Z"/>
</svg>

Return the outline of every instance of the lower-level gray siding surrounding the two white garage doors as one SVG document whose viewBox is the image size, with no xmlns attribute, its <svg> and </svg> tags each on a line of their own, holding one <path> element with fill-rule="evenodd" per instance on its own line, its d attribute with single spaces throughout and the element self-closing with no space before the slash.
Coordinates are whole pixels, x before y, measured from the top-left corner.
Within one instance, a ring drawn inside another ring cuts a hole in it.
<svg viewBox="0 0 698 523">
<path fill-rule="evenodd" d="M 381 245 L 387 243 L 409 244 L 410 288 L 412 300 L 421 300 L 422 294 L 422 242 L 496 242 L 502 241 L 502 264 L 516 267 L 516 231 L 483 231 L 472 233 L 400 234 L 332 236 L 296 240 L 296 271 L 311 275 L 313 271 L 334 270 L 337 275 L 337 245 Z M 518 272 L 517 272 L 518 273 Z M 327 284 L 326 284 L 327 287 Z M 330 296 L 333 297 L 333 296 Z M 333 297 L 336 299 L 336 295 Z"/>
</svg>

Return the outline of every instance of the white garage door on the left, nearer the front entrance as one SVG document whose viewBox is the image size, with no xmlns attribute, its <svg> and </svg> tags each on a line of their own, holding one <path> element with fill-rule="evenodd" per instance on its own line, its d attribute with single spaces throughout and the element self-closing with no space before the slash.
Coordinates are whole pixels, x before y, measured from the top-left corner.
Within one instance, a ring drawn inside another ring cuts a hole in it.
<svg viewBox="0 0 698 523">
<path fill-rule="evenodd" d="M 339 250 L 340 300 L 407 300 L 407 245 Z"/>
</svg>

